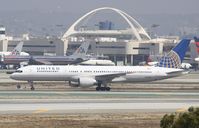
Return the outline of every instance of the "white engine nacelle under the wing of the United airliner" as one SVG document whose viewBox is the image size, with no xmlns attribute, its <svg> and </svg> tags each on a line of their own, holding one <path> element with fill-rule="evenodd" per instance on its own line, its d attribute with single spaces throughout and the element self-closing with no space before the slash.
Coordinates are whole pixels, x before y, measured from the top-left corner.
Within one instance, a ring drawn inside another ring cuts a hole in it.
<svg viewBox="0 0 199 128">
<path fill-rule="evenodd" d="M 77 81 L 69 81 L 69 86 L 71 87 L 91 87 L 95 85 L 97 81 L 93 78 L 88 77 L 80 77 Z"/>
</svg>

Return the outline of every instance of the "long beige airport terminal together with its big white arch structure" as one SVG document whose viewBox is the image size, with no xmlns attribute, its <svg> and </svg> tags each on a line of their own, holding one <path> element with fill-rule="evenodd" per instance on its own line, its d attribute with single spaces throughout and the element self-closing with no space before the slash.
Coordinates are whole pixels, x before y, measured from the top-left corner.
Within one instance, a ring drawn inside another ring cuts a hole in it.
<svg viewBox="0 0 199 128">
<path fill-rule="evenodd" d="M 128 27 L 115 28 L 117 23 L 100 19 L 94 29 L 85 25 L 98 12 L 116 13 Z M 83 23 L 82 23 L 83 22 Z M 84 24 L 84 25 L 82 25 Z M 4 33 L 0 33 L 5 35 Z M 105 55 L 116 65 L 138 65 L 151 55 L 162 55 L 169 51 L 178 38 L 151 39 L 144 28 L 127 13 L 110 7 L 98 8 L 88 12 L 74 22 L 62 38 L 30 37 L 0 39 L 0 50 L 11 51 L 19 41 L 24 41 L 23 51 L 31 55 L 66 55 L 74 52 L 82 42 L 89 41 L 88 53 Z"/>
</svg>

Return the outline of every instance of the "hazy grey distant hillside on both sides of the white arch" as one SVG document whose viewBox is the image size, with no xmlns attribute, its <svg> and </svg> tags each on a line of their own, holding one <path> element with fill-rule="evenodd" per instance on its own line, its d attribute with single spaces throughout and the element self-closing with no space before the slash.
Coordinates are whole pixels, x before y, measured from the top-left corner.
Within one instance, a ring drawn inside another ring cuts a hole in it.
<svg viewBox="0 0 199 128">
<path fill-rule="evenodd" d="M 131 15 L 131 12 L 128 12 Z M 0 12 L 0 24 L 8 35 L 62 35 L 83 13 L 70 12 Z M 134 14 L 143 27 L 156 35 L 199 35 L 199 14 Z M 115 15 L 112 17 L 114 18 Z M 153 24 L 160 26 L 152 28 Z"/>
</svg>

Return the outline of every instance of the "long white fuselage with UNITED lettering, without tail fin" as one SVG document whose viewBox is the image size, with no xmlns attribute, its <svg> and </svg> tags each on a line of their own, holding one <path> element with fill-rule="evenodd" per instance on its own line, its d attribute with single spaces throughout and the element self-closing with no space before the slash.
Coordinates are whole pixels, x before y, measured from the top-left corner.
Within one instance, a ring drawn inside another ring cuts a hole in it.
<svg viewBox="0 0 199 128">
<path fill-rule="evenodd" d="M 27 66 L 11 75 L 12 79 L 23 81 L 75 81 L 78 78 L 100 80 L 113 77 L 110 82 L 144 82 L 178 76 L 182 69 L 150 66 Z"/>
</svg>

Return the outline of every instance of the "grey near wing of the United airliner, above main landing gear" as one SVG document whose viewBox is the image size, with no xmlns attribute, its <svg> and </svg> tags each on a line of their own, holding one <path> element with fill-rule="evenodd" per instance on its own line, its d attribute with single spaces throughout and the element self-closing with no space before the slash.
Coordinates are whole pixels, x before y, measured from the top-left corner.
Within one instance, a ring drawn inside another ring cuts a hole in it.
<svg viewBox="0 0 199 128">
<path fill-rule="evenodd" d="M 95 76 L 95 79 L 100 80 L 100 81 L 111 81 L 112 79 L 114 79 L 116 77 L 124 76 L 126 74 L 127 73 L 103 74 L 103 75 Z"/>
</svg>

